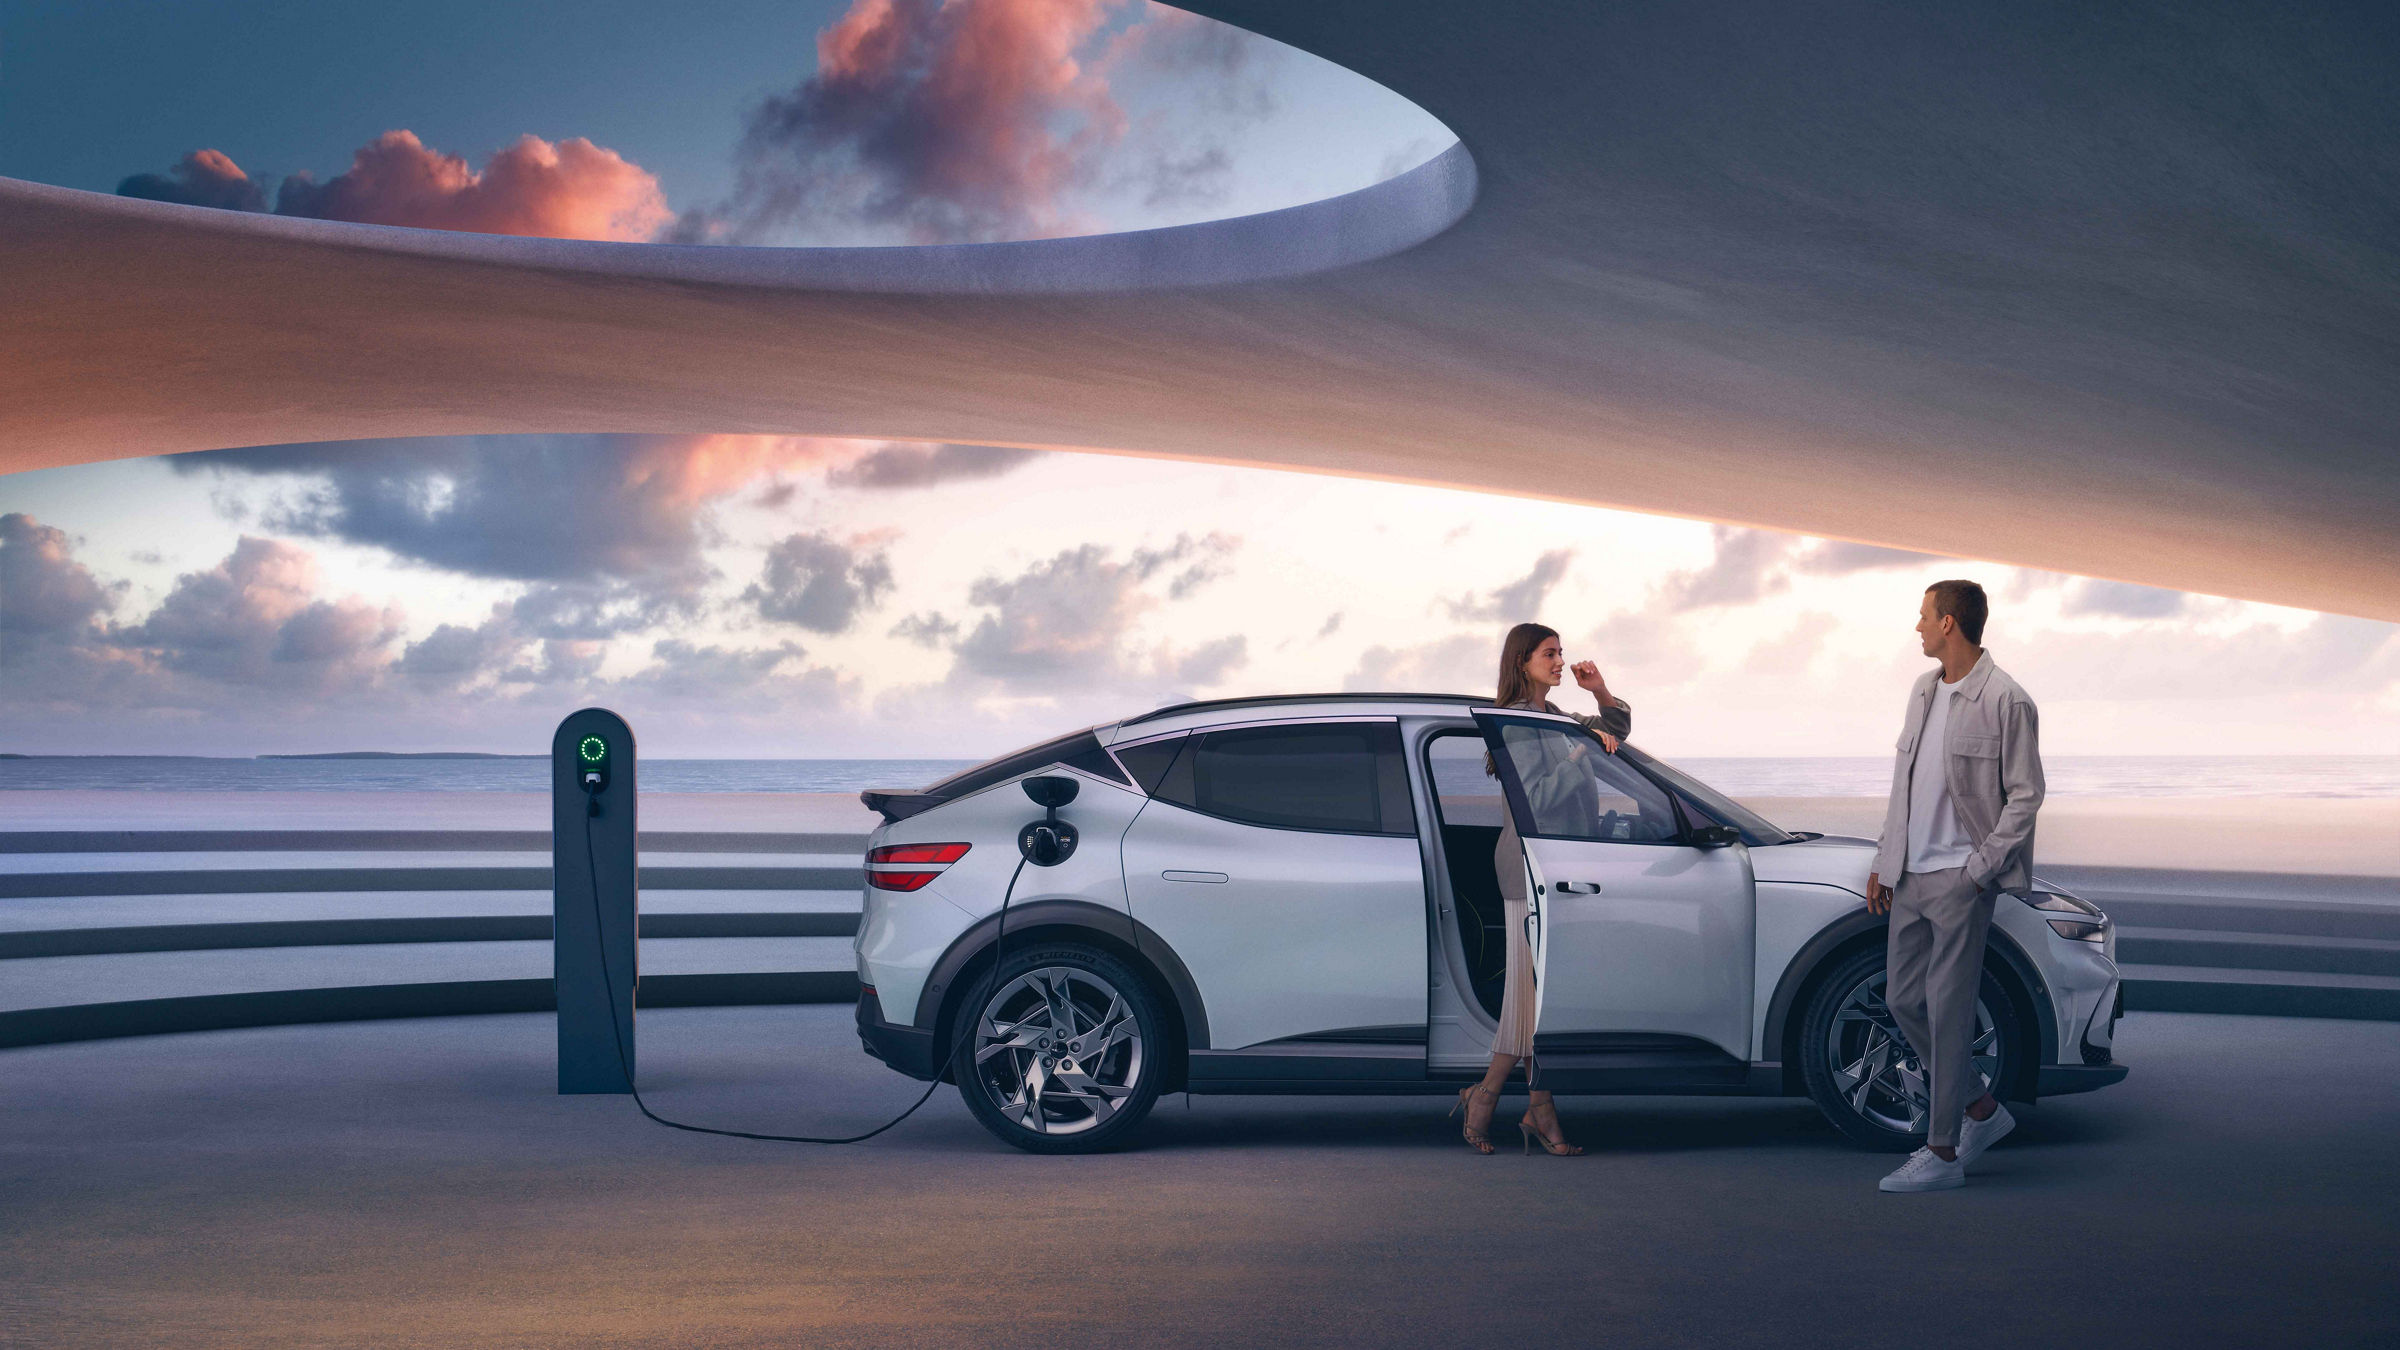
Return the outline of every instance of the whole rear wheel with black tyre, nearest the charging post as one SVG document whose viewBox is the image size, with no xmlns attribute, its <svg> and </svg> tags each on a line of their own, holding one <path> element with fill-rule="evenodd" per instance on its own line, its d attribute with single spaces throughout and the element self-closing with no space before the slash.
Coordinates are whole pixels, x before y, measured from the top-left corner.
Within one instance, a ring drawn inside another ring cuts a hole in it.
<svg viewBox="0 0 2400 1350">
<path fill-rule="evenodd" d="M 1022 985 L 1020 985 L 1022 982 Z M 1073 1045 L 1097 1047 L 1097 1057 L 1075 1059 L 1068 1045 L 1054 1045 L 1056 1016 L 1051 994 L 1063 994 L 1068 1019 L 1078 1026 Z M 1039 1047 L 986 1043 L 984 1019 L 1001 997 L 1001 1019 L 1010 1040 L 1042 1035 Z M 1123 999 L 1116 1014 L 1106 999 Z M 958 1002 L 950 1076 L 974 1119 L 998 1139 L 1027 1153 L 1099 1153 L 1121 1146 L 1142 1127 L 1159 1100 L 1171 1050 L 1169 1021 L 1150 980 L 1126 961 L 1080 942 L 1039 942 L 1008 951 L 998 970 L 986 970 Z M 1121 1021 L 1118 1021 L 1121 1019 Z M 1042 1021 L 1042 1028 L 1032 1023 Z M 1090 1023 L 1090 1026 L 1085 1026 Z M 1130 1023 L 1130 1040 L 1121 1035 Z M 982 1057 L 979 1047 L 996 1050 Z M 1032 1074 L 1032 1064 L 1042 1064 Z M 1061 1074 L 1058 1067 L 1070 1069 Z M 1044 1095 L 1056 1091 L 1058 1095 Z M 1037 1122 L 1037 1124 L 1027 1124 Z"/>
</svg>

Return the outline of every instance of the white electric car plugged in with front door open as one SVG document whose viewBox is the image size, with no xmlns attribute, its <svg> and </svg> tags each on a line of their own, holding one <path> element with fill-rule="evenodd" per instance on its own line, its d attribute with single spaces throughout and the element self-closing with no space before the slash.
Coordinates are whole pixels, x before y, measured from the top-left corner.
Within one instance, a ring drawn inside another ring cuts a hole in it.
<svg viewBox="0 0 2400 1350">
<path fill-rule="evenodd" d="M 1075 838 L 1056 858 L 1030 798 L 1066 795 L 1049 810 Z M 1159 1093 L 1481 1076 L 1502 810 L 1531 872 L 1536 1086 L 1810 1095 L 1862 1146 L 1925 1136 L 1865 906 L 1874 846 L 1778 829 L 1565 716 L 1445 694 L 1178 704 L 862 798 L 883 824 L 859 1040 L 955 1081 L 1020 1148 L 1109 1148 Z M 1975 1064 L 2002 1098 L 2124 1079 L 2114 942 L 2057 886 L 1997 901 Z"/>
</svg>

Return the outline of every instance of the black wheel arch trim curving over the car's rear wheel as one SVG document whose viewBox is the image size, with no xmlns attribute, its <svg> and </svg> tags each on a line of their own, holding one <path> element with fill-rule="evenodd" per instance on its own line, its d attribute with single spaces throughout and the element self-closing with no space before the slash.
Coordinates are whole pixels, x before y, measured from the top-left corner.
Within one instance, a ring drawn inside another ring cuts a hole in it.
<svg viewBox="0 0 2400 1350">
<path fill-rule="evenodd" d="M 917 994 L 917 1026 L 934 1031 L 934 1045 L 950 1045 L 958 1006 L 974 980 L 991 970 L 994 949 L 1001 937 L 1001 915 L 989 915 L 958 934 L 941 961 L 926 975 L 924 992 Z M 1150 932 L 1123 910 L 1094 906 L 1090 901 L 1032 901 L 1008 906 L 1008 944 L 1020 942 L 1082 942 L 1133 966 L 1162 994 L 1162 1006 L 1174 1021 L 1169 1028 L 1171 1052 L 1159 1091 L 1183 1088 L 1190 1067 L 1190 1050 L 1207 1047 L 1207 1004 L 1193 982 L 1183 958 L 1164 937 Z M 950 1081 L 948 1055 L 941 1057 L 938 1074 Z"/>
</svg>

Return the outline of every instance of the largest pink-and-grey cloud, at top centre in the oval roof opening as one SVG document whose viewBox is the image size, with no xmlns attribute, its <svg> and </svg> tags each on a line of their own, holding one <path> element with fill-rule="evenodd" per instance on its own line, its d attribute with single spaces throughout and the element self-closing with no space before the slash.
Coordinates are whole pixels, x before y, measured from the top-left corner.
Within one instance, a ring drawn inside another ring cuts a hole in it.
<svg viewBox="0 0 2400 1350">
<path fill-rule="evenodd" d="M 1087 231 L 1102 195 L 1217 202 L 1226 135 L 1274 110 L 1279 50 L 1126 0 L 854 0 L 816 72 L 749 113 L 732 199 L 667 238 L 986 243 Z M 1130 113 L 1116 82 L 1162 106 Z"/>
</svg>

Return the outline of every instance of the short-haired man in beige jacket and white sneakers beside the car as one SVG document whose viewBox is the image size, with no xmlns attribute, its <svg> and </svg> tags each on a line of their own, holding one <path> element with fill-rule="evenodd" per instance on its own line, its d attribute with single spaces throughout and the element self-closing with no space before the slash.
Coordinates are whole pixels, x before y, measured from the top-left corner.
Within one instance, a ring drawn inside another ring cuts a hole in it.
<svg viewBox="0 0 2400 1350">
<path fill-rule="evenodd" d="M 1982 649 L 1987 613 L 1973 581 L 1925 589 L 1918 637 L 1942 668 L 1908 692 L 1867 877 L 1867 913 L 1891 913 L 1884 1004 L 1918 1052 L 1930 1098 L 1925 1148 L 1882 1179 L 1884 1191 L 1963 1187 L 1966 1165 L 2016 1129 L 1975 1074 L 1975 990 L 1992 903 L 2033 882 L 2042 752 L 2033 699 Z"/>
</svg>

